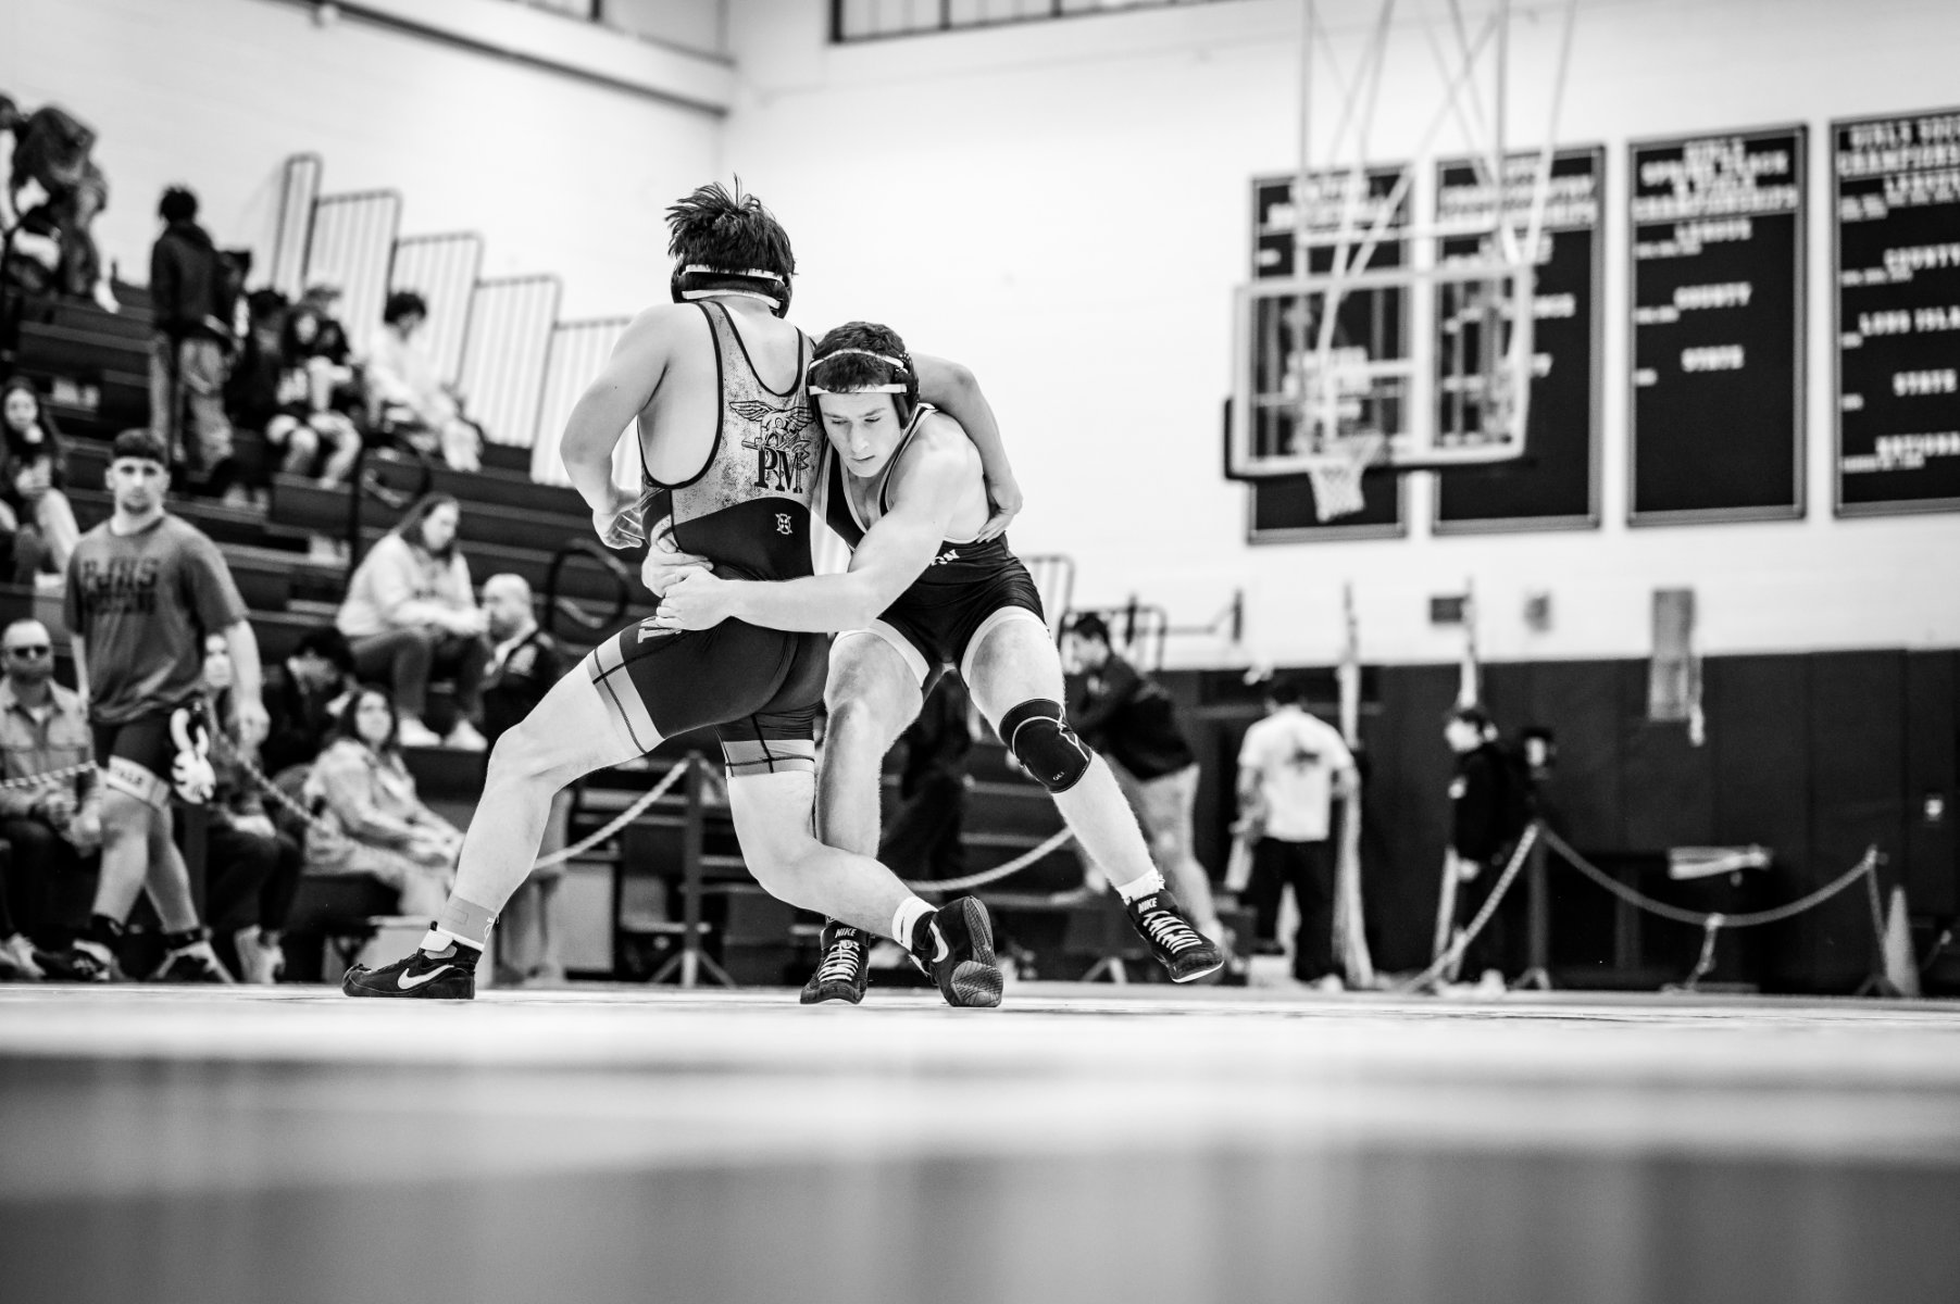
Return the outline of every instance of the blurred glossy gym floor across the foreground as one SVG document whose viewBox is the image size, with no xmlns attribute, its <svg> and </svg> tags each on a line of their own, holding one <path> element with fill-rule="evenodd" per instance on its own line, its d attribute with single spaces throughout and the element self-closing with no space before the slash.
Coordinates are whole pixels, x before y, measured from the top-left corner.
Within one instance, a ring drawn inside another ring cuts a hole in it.
<svg viewBox="0 0 1960 1304">
<path fill-rule="evenodd" d="M 0 1296 L 1960 1298 L 1960 1006 L 0 989 Z"/>
</svg>

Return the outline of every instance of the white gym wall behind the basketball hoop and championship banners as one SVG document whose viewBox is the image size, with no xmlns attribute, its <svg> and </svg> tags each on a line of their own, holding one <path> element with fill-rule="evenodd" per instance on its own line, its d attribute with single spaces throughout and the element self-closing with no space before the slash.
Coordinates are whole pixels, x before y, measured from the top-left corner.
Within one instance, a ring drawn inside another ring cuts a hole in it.
<svg viewBox="0 0 1960 1304">
<path fill-rule="evenodd" d="M 1827 121 L 1960 102 L 1960 6 L 1582 0 L 1560 139 L 1607 147 L 1601 527 L 1431 538 L 1417 476 L 1409 538 L 1256 548 L 1247 491 L 1219 472 L 1219 403 L 1250 178 L 1298 157 L 1298 0 L 845 47 L 825 43 L 825 8 L 733 6 L 741 98 L 725 157 L 796 235 L 802 321 L 882 317 L 980 372 L 1027 488 L 1015 544 L 1072 554 L 1078 601 L 1139 593 L 1201 623 L 1245 585 L 1252 650 L 1282 662 L 1335 658 L 1345 580 L 1368 660 L 1456 656 L 1458 634 L 1429 627 L 1425 599 L 1466 578 L 1497 660 L 1644 656 L 1648 595 L 1680 585 L 1697 589 L 1705 652 L 1960 642 L 1960 585 L 1942 580 L 1960 517 L 1831 517 L 1827 278 Z M 1562 6 L 1513 8 L 1513 123 L 1537 133 Z M 1374 10 L 1321 2 L 1348 69 Z M 1413 59 L 1390 65 L 1378 161 L 1407 159 L 1439 102 L 1419 37 L 1401 51 Z M 1633 531 L 1625 145 L 1782 121 L 1811 125 L 1809 513 Z M 1552 595 L 1544 634 L 1525 629 L 1529 591 Z"/>
</svg>

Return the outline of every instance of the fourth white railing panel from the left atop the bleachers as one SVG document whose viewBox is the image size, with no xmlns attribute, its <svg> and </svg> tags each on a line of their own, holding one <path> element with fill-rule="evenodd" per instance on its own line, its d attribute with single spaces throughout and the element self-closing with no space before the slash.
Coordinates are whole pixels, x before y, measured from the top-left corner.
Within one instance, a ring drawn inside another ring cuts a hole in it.
<svg viewBox="0 0 1960 1304">
<path fill-rule="evenodd" d="M 494 444 L 529 448 L 545 390 L 545 354 L 559 319 L 557 276 L 478 280 L 463 347 L 461 390 Z"/>
</svg>

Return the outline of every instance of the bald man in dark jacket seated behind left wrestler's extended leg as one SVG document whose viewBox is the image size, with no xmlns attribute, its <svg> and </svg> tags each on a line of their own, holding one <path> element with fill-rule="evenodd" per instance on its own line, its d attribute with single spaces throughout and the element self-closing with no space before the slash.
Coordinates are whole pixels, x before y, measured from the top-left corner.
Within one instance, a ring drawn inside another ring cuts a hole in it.
<svg viewBox="0 0 1960 1304">
<path fill-rule="evenodd" d="M 484 580 L 484 619 L 490 623 L 490 666 L 484 672 L 484 738 L 496 746 L 545 699 L 564 674 L 564 654 L 557 640 L 537 627 L 531 585 L 523 576 Z M 551 801 L 539 856 L 564 846 L 572 818 L 572 793 Z M 517 887 L 496 928 L 496 981 L 500 985 L 547 985 L 564 979 L 557 946 L 557 901 L 564 865 L 533 869 Z"/>
</svg>

